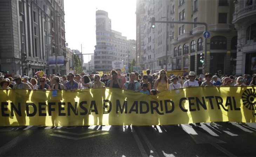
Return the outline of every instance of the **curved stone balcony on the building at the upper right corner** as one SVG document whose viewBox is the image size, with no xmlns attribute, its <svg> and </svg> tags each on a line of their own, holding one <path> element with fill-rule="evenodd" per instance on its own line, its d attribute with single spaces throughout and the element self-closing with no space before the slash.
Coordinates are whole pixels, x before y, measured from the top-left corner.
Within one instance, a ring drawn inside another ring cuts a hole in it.
<svg viewBox="0 0 256 157">
<path fill-rule="evenodd" d="M 244 17 L 255 16 L 255 13 L 256 13 L 256 4 L 240 9 L 237 11 L 237 13 L 234 13 L 233 23 L 237 22 L 238 20 L 241 20 Z"/>
</svg>

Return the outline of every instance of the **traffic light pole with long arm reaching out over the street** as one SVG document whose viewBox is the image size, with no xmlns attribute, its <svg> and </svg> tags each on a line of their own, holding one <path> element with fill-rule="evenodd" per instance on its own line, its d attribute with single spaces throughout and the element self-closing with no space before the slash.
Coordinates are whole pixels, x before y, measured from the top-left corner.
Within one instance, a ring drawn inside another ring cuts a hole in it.
<svg viewBox="0 0 256 157">
<path fill-rule="evenodd" d="M 187 22 L 187 21 L 155 21 L 155 17 L 151 17 L 151 20 L 149 21 L 151 23 L 151 28 L 155 28 L 155 23 L 180 23 L 180 24 L 200 24 L 200 25 L 204 25 L 205 27 L 205 31 L 207 31 L 208 26 L 207 23 L 205 22 Z M 205 66 L 205 70 L 204 72 L 206 72 L 207 70 L 207 38 L 204 39 L 204 66 Z"/>
</svg>

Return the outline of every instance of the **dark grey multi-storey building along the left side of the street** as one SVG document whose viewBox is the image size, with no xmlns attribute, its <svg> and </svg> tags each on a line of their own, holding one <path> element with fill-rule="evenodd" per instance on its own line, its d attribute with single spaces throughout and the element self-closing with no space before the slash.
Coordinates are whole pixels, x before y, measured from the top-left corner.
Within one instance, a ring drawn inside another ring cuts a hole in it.
<svg viewBox="0 0 256 157">
<path fill-rule="evenodd" d="M 29 76 L 66 73 L 65 66 L 57 71 L 48 61 L 66 56 L 63 0 L 2 0 L 0 6 L 0 69 Z"/>
</svg>

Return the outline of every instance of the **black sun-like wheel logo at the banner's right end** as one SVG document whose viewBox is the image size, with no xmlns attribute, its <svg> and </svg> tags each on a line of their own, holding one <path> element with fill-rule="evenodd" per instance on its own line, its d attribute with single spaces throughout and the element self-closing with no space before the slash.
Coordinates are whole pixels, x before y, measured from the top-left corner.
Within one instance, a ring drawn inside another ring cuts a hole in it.
<svg viewBox="0 0 256 157">
<path fill-rule="evenodd" d="M 256 92 L 252 89 L 247 89 L 242 95 L 243 105 L 249 110 L 256 110 Z"/>
</svg>

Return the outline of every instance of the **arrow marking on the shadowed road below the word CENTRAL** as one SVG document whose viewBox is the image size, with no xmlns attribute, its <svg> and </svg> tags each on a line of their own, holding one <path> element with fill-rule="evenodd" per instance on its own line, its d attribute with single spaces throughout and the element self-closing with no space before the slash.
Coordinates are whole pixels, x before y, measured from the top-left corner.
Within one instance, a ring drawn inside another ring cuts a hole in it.
<svg viewBox="0 0 256 157">
<path fill-rule="evenodd" d="M 184 124 L 182 124 L 181 127 L 183 128 L 184 131 L 186 131 L 192 137 L 192 139 L 196 142 L 196 144 L 209 143 L 213 147 L 215 147 L 218 150 L 220 150 L 221 152 L 223 152 L 224 154 L 226 154 L 228 156 L 235 156 L 234 154 L 232 154 L 231 152 L 229 152 L 228 150 L 222 148 L 220 145 L 217 144 L 217 143 L 227 143 L 227 142 L 224 142 L 220 139 L 217 139 L 215 137 L 212 137 L 210 135 L 207 135 L 207 134 L 199 132 L 199 131 L 197 134 L 196 131 L 192 127 L 189 127 Z M 191 134 L 191 133 L 193 133 L 193 134 Z"/>
</svg>

